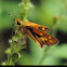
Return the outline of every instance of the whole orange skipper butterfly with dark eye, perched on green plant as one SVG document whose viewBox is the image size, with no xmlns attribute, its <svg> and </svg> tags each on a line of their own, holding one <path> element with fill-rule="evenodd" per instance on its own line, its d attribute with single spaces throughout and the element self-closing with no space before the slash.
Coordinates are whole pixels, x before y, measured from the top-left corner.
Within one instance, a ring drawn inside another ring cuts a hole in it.
<svg viewBox="0 0 67 67">
<path fill-rule="evenodd" d="M 31 22 L 24 22 L 19 18 L 15 19 L 15 24 L 21 28 L 22 34 L 26 32 L 40 48 L 43 48 L 43 45 L 54 45 L 58 42 L 56 38 L 49 35 L 50 29 L 48 27 Z"/>
</svg>

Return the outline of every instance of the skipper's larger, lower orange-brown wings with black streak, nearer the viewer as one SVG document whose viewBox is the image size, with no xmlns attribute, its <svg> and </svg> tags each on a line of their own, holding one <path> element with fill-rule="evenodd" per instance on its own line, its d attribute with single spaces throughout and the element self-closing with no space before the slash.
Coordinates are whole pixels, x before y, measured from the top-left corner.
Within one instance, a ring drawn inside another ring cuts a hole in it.
<svg viewBox="0 0 67 67">
<path fill-rule="evenodd" d="M 26 32 L 39 44 L 40 48 L 43 45 L 53 45 L 58 42 L 58 40 L 40 29 L 37 29 L 31 26 L 26 26 Z"/>
</svg>

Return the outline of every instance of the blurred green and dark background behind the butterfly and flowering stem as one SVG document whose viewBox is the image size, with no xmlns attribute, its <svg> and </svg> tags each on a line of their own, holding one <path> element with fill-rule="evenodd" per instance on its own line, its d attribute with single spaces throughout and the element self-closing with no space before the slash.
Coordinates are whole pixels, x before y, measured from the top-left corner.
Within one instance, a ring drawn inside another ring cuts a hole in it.
<svg viewBox="0 0 67 67">
<path fill-rule="evenodd" d="M 27 49 L 16 65 L 67 65 L 67 0 L 30 0 L 34 4 L 27 15 L 29 22 L 50 28 L 50 34 L 59 41 L 50 46 L 45 53 L 39 45 L 28 39 Z M 0 64 L 6 59 L 4 51 L 10 46 L 14 19 L 21 14 L 18 5 L 22 0 L 0 0 Z M 9 16 L 11 14 L 12 16 Z"/>
</svg>

